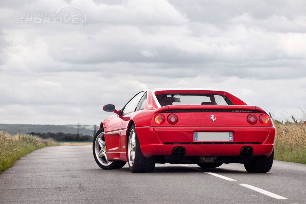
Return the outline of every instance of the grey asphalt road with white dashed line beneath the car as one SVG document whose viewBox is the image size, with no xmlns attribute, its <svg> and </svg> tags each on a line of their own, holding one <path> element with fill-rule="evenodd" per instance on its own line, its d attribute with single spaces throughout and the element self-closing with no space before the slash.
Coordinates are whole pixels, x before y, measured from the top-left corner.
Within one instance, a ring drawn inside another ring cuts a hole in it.
<svg viewBox="0 0 306 204">
<path fill-rule="evenodd" d="M 0 203 L 306 203 L 306 165 L 274 161 L 268 173 L 157 164 L 152 173 L 103 170 L 91 146 L 45 147 L 0 175 Z"/>
</svg>

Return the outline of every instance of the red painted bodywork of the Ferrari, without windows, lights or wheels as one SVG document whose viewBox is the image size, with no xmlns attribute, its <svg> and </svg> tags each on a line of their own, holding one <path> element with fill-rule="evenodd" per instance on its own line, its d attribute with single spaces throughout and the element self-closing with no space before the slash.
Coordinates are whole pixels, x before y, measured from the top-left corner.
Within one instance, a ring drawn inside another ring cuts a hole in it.
<svg viewBox="0 0 306 204">
<path fill-rule="evenodd" d="M 246 118 L 255 114 L 267 114 L 263 109 L 250 106 L 226 91 L 208 89 L 150 89 L 144 109 L 125 115 L 111 116 L 102 121 L 107 148 L 107 159 L 127 160 L 129 128 L 135 125 L 140 149 L 145 157 L 170 156 L 176 146 L 185 147 L 184 156 L 239 156 L 244 146 L 253 147 L 252 156 L 270 156 L 273 151 L 275 128 L 272 121 L 263 125 L 259 121 L 251 125 Z M 161 106 L 156 94 L 207 93 L 228 97 L 235 105 L 172 105 Z M 123 107 L 124 108 L 124 107 Z M 175 125 L 167 121 L 161 125 L 154 122 L 156 114 L 166 120 L 174 113 Z M 212 116 L 213 115 L 213 116 Z M 214 118 L 214 120 L 211 119 Z M 233 142 L 195 142 L 194 132 L 233 132 Z"/>
</svg>

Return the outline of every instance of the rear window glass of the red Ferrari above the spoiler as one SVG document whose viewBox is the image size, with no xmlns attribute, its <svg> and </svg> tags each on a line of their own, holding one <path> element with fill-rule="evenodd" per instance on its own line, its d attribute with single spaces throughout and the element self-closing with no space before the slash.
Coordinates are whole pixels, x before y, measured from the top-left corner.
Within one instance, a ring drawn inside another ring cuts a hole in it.
<svg viewBox="0 0 306 204">
<path fill-rule="evenodd" d="M 172 105 L 234 105 L 225 95 L 204 93 L 158 94 L 156 98 L 161 106 Z"/>
</svg>

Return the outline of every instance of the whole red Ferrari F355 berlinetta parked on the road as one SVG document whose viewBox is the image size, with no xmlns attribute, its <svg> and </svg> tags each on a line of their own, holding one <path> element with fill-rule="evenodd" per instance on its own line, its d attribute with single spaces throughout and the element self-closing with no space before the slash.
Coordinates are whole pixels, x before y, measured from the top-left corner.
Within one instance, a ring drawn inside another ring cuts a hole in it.
<svg viewBox="0 0 306 204">
<path fill-rule="evenodd" d="M 244 164 L 268 172 L 273 164 L 275 128 L 267 113 L 226 91 L 149 89 L 106 118 L 92 150 L 102 169 L 152 172 L 155 164 L 197 164 L 216 168 Z"/>
</svg>

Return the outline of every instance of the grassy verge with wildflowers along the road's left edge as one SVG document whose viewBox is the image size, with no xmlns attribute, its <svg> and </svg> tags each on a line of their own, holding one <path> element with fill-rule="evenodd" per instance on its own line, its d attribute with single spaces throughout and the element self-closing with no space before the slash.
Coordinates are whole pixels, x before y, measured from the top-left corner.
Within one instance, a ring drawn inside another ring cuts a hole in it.
<svg viewBox="0 0 306 204">
<path fill-rule="evenodd" d="M 9 135 L 0 132 L 0 173 L 11 167 L 24 155 L 46 146 L 59 146 L 54 139 L 41 139 L 32 135 Z"/>
</svg>

